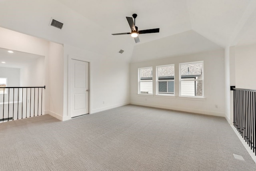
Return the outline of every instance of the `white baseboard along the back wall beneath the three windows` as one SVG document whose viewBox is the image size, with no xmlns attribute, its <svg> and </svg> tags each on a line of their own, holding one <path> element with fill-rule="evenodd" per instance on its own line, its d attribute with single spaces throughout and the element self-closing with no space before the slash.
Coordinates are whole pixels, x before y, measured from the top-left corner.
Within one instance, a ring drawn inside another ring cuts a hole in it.
<svg viewBox="0 0 256 171">
<path fill-rule="evenodd" d="M 150 103 L 139 103 L 139 102 L 134 102 L 134 101 L 132 101 L 131 104 L 148 106 L 148 107 L 157 107 L 157 108 L 161 108 L 161 109 L 185 111 L 185 112 L 191 112 L 191 113 L 199 113 L 199 114 L 203 114 L 203 115 L 212 115 L 212 116 L 225 117 L 224 113 L 215 112 L 215 111 L 206 111 L 206 110 L 200 110 L 200 109 L 189 109 L 189 108 L 184 108 L 184 107 L 174 107 L 174 106 L 166 106 L 166 105 L 154 105 L 154 104 L 150 104 Z"/>
</svg>

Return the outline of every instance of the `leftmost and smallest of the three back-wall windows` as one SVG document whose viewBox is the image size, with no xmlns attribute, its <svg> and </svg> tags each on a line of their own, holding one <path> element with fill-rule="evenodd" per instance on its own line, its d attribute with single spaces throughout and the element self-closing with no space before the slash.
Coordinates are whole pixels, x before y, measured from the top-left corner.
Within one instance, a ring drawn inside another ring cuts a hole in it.
<svg viewBox="0 0 256 171">
<path fill-rule="evenodd" d="M 139 94 L 153 94 L 152 67 L 139 68 Z"/>
</svg>

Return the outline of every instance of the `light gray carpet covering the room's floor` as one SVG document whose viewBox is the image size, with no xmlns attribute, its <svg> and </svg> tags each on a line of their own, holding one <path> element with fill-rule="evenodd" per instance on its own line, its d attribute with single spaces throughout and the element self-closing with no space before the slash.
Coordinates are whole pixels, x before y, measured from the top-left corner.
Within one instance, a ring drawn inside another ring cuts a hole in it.
<svg viewBox="0 0 256 171">
<path fill-rule="evenodd" d="M 3 171 L 256 170 L 225 118 L 136 105 L 0 123 L 0 148 Z"/>
</svg>

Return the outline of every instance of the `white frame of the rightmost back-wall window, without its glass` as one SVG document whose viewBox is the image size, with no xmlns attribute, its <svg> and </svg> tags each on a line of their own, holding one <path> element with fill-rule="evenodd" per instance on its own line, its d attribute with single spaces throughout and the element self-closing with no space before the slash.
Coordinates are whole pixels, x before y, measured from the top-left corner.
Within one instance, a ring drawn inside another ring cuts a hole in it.
<svg viewBox="0 0 256 171">
<path fill-rule="evenodd" d="M 198 64 L 198 63 L 202 63 L 202 78 L 200 79 L 196 79 L 196 77 L 192 77 L 192 76 L 188 76 L 188 78 L 182 78 L 181 76 L 181 66 L 182 65 L 186 65 L 186 64 Z M 181 82 L 186 82 L 186 81 L 202 81 L 202 95 L 194 95 L 194 96 L 190 96 L 190 95 L 182 95 L 182 89 L 181 89 Z M 196 62 L 184 62 L 184 63 L 180 63 L 179 64 L 179 96 L 180 97 L 194 97 L 194 98 L 204 98 L 204 61 L 196 61 Z"/>
</svg>

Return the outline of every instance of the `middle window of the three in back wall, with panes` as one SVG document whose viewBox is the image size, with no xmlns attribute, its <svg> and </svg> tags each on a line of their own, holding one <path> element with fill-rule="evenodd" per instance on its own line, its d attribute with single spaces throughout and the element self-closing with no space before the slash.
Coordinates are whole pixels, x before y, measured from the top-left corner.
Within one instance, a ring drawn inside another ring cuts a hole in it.
<svg viewBox="0 0 256 171">
<path fill-rule="evenodd" d="M 157 66 L 158 94 L 174 95 L 174 65 Z"/>
</svg>

